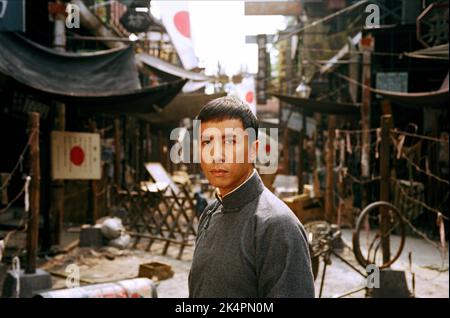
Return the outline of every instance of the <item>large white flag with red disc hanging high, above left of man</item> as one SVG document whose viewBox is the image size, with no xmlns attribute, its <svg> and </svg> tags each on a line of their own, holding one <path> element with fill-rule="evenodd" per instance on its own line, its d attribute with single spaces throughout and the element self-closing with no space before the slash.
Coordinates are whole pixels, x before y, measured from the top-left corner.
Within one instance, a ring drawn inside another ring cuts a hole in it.
<svg viewBox="0 0 450 318">
<path fill-rule="evenodd" d="M 198 65 L 191 35 L 191 22 L 187 1 L 152 1 L 161 14 L 161 20 L 187 70 Z"/>
</svg>

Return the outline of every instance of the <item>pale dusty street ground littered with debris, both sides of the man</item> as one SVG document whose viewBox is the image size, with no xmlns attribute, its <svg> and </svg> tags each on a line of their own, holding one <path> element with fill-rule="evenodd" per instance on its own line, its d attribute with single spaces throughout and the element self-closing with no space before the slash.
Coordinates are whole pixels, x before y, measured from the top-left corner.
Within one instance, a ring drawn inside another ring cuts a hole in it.
<svg viewBox="0 0 450 318">
<path fill-rule="evenodd" d="M 351 242 L 351 231 L 343 230 L 345 242 Z M 394 244 L 398 238 L 393 237 Z M 137 277 L 139 264 L 161 262 L 168 264 L 174 271 L 172 278 L 157 283 L 158 297 L 188 297 L 188 275 L 192 261 L 193 247 L 187 247 L 182 260 L 177 260 L 178 248 L 171 246 L 168 255 L 161 255 L 162 244 L 154 244 L 150 252 L 145 251 L 145 243 L 137 249 L 118 250 L 115 248 L 76 248 L 68 254 L 57 256 L 49 261 L 44 269 L 53 274 L 53 288 L 64 288 L 64 269 L 75 263 L 80 266 L 81 284 L 118 281 Z M 412 274 L 409 271 L 408 254 L 412 252 L 412 272 L 415 274 L 415 297 L 449 297 L 448 254 L 443 259 L 440 252 L 423 240 L 406 240 L 404 252 L 394 264 L 393 269 L 404 270 L 408 288 L 412 292 Z M 341 254 L 356 264 L 350 250 Z M 444 260 L 444 261 L 443 261 Z M 319 273 L 321 273 L 321 268 Z M 316 295 L 319 294 L 321 276 L 316 280 Z M 327 268 L 322 297 L 336 297 L 350 290 L 364 286 L 365 279 L 336 257 Z M 364 297 L 365 292 L 347 297 Z"/>
</svg>

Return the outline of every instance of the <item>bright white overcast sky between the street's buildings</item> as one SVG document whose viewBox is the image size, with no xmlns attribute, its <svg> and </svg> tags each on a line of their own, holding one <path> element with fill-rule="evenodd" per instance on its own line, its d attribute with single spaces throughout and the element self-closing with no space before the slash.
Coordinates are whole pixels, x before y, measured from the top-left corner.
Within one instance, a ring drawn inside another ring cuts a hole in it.
<svg viewBox="0 0 450 318">
<path fill-rule="evenodd" d="M 256 44 L 245 44 L 245 35 L 273 34 L 285 28 L 283 16 L 245 16 L 244 1 L 188 1 L 191 32 L 199 66 L 214 74 L 217 62 L 227 75 L 241 68 L 256 73 L 258 51 Z M 159 18 L 159 12 L 152 7 Z"/>
</svg>

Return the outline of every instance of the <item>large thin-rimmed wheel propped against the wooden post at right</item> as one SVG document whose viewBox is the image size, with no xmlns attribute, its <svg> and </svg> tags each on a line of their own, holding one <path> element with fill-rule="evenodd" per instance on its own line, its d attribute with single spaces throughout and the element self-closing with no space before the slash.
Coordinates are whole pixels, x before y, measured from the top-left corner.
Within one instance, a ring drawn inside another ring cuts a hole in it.
<svg viewBox="0 0 450 318">
<path fill-rule="evenodd" d="M 381 215 L 385 215 L 384 226 L 381 226 Z M 382 238 L 399 235 L 399 240 L 392 238 L 389 244 L 390 257 L 383 260 Z M 392 204 L 378 201 L 369 204 L 359 215 L 353 233 L 353 252 L 356 260 L 364 268 L 375 264 L 378 268 L 392 265 L 402 253 L 405 244 L 405 222 L 400 211 Z"/>
</svg>

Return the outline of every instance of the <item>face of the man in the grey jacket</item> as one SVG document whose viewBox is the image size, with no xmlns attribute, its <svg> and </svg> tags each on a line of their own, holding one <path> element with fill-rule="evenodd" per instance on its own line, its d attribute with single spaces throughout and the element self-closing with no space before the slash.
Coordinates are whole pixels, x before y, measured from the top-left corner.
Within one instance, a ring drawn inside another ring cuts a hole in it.
<svg viewBox="0 0 450 318">
<path fill-rule="evenodd" d="M 249 136 L 240 119 L 202 122 L 200 126 L 201 167 L 209 182 L 226 195 L 253 172 L 258 142 L 249 150 Z"/>
</svg>

